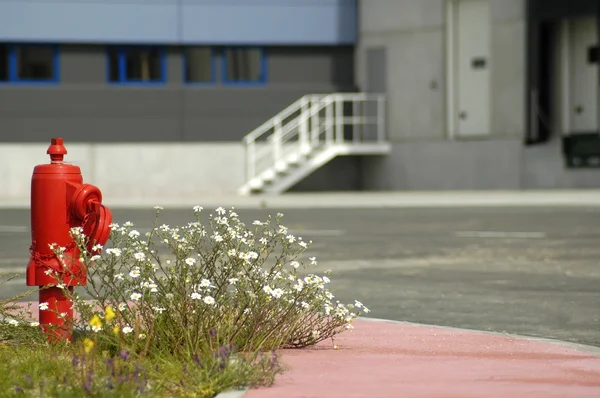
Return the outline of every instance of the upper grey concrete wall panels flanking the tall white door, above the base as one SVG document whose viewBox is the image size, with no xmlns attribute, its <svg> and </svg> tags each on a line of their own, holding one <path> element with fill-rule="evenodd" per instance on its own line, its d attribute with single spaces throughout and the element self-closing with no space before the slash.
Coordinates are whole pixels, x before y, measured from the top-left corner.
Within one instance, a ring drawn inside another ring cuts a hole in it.
<svg viewBox="0 0 600 398">
<path fill-rule="evenodd" d="M 524 0 L 490 0 L 492 131 L 520 138 L 525 123 Z M 446 137 L 446 0 L 359 3 L 357 84 L 367 86 L 366 52 L 387 51 L 388 135 L 394 142 Z"/>
</svg>

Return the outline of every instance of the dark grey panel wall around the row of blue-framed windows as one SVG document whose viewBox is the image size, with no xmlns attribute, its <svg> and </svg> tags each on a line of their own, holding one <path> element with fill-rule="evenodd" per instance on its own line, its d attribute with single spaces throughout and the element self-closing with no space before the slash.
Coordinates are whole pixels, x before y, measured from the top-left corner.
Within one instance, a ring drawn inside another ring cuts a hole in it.
<svg viewBox="0 0 600 398">
<path fill-rule="evenodd" d="M 177 47 L 162 86 L 108 85 L 105 46 L 60 54 L 59 85 L 0 86 L 0 142 L 238 141 L 304 94 L 354 90 L 351 46 L 268 48 L 255 87 L 184 85 Z"/>
</svg>

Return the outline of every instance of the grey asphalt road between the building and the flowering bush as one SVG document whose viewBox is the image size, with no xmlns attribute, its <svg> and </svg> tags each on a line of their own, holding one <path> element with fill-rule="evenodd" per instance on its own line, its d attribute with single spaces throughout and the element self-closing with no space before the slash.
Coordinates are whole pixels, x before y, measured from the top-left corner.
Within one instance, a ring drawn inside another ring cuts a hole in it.
<svg viewBox="0 0 600 398">
<path fill-rule="evenodd" d="M 244 221 L 276 210 L 237 210 Z M 151 226 L 153 210 L 113 210 Z M 600 208 L 302 209 L 284 224 L 312 239 L 341 301 L 371 316 L 600 347 Z M 165 210 L 170 225 L 191 211 Z M 0 272 L 24 272 L 29 213 L 0 210 Z M 19 277 L 0 297 L 24 291 Z"/>
</svg>

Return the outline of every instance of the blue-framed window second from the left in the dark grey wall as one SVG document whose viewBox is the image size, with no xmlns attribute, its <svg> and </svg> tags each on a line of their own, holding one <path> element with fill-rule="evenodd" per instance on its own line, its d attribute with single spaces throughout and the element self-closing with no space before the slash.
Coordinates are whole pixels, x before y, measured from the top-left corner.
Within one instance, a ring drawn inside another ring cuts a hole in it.
<svg viewBox="0 0 600 398">
<path fill-rule="evenodd" d="M 157 85 L 167 81 L 165 49 L 153 46 L 108 47 L 107 80 L 111 84 Z"/>
</svg>

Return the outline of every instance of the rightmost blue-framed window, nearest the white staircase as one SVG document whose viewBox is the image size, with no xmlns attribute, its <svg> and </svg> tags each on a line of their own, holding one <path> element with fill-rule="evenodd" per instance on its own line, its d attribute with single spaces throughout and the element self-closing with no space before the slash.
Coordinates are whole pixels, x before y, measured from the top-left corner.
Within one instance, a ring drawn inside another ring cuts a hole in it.
<svg viewBox="0 0 600 398">
<path fill-rule="evenodd" d="M 227 84 L 263 84 L 266 80 L 265 53 L 258 48 L 226 48 L 223 81 Z"/>
</svg>

